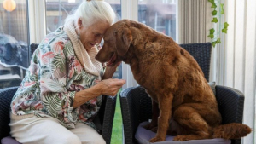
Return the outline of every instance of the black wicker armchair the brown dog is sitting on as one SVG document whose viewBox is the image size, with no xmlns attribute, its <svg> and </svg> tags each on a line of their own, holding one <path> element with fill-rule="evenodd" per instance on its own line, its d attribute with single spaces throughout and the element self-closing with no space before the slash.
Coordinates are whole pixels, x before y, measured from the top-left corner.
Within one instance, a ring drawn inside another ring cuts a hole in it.
<svg viewBox="0 0 256 144">
<path fill-rule="evenodd" d="M 211 60 L 211 43 L 191 43 L 181 44 L 181 46 L 188 50 L 190 55 L 193 55 L 195 60 L 201 66 L 202 71 L 205 74 L 207 81 L 209 80 L 210 72 L 210 60 Z M 223 118 L 223 124 L 229 123 L 242 123 L 244 95 L 236 90 L 228 87 L 214 85 L 216 98 L 218 101 L 218 108 Z M 151 119 L 152 107 L 151 99 L 145 92 L 142 86 L 131 87 L 123 89 L 120 93 L 120 105 L 123 117 L 125 144 L 136 144 L 135 138 L 137 127 L 140 123 Z M 218 141 L 209 140 L 196 140 L 196 141 L 166 141 L 166 143 L 177 144 L 177 143 L 218 143 Z M 220 140 L 220 143 L 241 144 L 241 139 L 238 140 Z M 162 142 L 159 142 L 162 143 Z"/>
</svg>

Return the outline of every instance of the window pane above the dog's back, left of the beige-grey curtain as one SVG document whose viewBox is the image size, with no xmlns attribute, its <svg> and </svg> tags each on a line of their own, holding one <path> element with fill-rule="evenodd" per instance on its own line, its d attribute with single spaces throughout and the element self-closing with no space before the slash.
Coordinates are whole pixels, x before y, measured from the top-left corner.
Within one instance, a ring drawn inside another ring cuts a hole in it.
<svg viewBox="0 0 256 144">
<path fill-rule="evenodd" d="M 138 0 L 138 21 L 176 40 L 177 0 Z"/>
</svg>

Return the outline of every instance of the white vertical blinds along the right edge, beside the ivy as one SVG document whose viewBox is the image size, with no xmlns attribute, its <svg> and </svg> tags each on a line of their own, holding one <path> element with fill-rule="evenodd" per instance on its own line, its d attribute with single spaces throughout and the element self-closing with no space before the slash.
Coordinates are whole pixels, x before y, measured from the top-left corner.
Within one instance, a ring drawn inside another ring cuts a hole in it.
<svg viewBox="0 0 256 144">
<path fill-rule="evenodd" d="M 224 85 L 245 95 L 243 123 L 255 129 L 256 81 L 256 1 L 225 0 L 226 20 L 230 24 L 224 37 Z M 253 144 L 254 131 L 243 138 Z"/>
</svg>

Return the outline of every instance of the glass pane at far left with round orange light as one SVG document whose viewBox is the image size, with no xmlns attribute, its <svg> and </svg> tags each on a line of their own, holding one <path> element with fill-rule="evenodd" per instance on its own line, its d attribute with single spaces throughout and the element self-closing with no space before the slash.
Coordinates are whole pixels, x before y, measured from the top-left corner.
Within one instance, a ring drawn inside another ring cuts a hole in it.
<svg viewBox="0 0 256 144">
<path fill-rule="evenodd" d="M 0 89 L 19 86 L 29 65 L 26 0 L 9 2 L 0 1 Z"/>
</svg>

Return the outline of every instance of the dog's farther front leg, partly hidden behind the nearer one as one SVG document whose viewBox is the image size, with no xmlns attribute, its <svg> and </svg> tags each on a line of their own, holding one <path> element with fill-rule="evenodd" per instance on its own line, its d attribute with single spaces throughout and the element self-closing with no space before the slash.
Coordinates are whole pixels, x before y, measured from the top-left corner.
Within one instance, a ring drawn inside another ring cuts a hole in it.
<svg viewBox="0 0 256 144">
<path fill-rule="evenodd" d="M 158 117 L 159 117 L 158 103 L 152 99 L 152 120 L 151 120 L 150 124 L 145 125 L 144 128 L 156 132 Z"/>
</svg>

